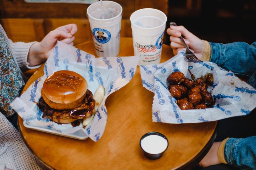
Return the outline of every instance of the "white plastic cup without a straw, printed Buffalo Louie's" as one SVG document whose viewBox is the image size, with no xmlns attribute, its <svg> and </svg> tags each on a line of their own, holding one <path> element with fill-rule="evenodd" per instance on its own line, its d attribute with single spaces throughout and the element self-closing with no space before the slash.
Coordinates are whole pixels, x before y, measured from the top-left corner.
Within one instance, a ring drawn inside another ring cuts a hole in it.
<svg viewBox="0 0 256 170">
<path fill-rule="evenodd" d="M 134 55 L 140 55 L 139 65 L 160 63 L 167 21 L 164 12 L 144 8 L 133 12 L 130 20 Z"/>
</svg>

